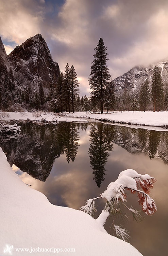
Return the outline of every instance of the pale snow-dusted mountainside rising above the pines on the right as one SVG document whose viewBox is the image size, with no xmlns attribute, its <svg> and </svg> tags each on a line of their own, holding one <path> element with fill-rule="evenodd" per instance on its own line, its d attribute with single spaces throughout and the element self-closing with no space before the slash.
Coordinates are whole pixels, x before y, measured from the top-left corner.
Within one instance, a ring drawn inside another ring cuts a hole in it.
<svg viewBox="0 0 168 256">
<path fill-rule="evenodd" d="M 117 77 L 113 80 L 115 90 L 118 95 L 121 95 L 124 89 L 131 93 L 138 93 L 141 84 L 148 79 L 149 83 L 152 82 L 153 68 L 155 65 L 149 67 L 136 66 L 130 69 L 127 73 Z M 156 63 L 162 71 L 163 82 L 168 82 L 168 61 Z"/>
</svg>

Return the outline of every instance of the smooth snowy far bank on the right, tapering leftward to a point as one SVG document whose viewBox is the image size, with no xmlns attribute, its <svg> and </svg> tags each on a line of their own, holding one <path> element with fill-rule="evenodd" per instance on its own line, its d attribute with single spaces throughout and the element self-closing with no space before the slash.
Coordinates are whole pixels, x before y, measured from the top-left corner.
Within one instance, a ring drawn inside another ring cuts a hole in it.
<svg viewBox="0 0 168 256">
<path fill-rule="evenodd" d="M 107 122 L 119 122 L 132 125 L 145 126 L 168 126 L 168 111 L 152 112 L 152 111 L 125 111 L 111 112 L 109 114 L 87 114 L 87 112 L 75 112 L 66 114 L 69 117 L 92 118 L 97 120 L 106 120 Z M 164 129 L 166 130 L 166 129 Z"/>
</svg>

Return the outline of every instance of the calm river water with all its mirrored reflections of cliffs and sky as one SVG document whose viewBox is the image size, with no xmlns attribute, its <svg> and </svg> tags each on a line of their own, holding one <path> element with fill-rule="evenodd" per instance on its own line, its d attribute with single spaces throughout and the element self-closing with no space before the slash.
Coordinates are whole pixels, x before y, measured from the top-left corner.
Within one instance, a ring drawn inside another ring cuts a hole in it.
<svg viewBox="0 0 168 256">
<path fill-rule="evenodd" d="M 115 223 L 130 231 L 129 242 L 144 256 L 168 255 L 168 131 L 102 123 L 18 124 L 21 133 L 1 137 L 0 146 L 20 178 L 53 204 L 79 209 L 128 168 L 155 177 L 151 197 L 157 212 L 142 213 L 138 224 L 132 216 Z M 136 195 L 128 192 L 127 201 L 139 209 Z M 98 203 L 99 214 L 103 202 Z M 111 220 L 105 228 L 112 234 L 110 225 Z"/>
</svg>

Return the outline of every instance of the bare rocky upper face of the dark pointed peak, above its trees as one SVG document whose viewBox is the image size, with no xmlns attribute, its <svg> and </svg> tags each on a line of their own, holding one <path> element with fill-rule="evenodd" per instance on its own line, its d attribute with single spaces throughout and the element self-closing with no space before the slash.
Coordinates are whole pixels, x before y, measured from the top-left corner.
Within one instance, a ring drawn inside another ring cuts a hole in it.
<svg viewBox="0 0 168 256">
<path fill-rule="evenodd" d="M 15 47 L 9 54 L 9 61 L 20 86 L 29 82 L 32 87 L 39 86 L 40 83 L 44 88 L 54 87 L 60 74 L 58 63 L 53 61 L 41 34 L 36 34 Z"/>
</svg>

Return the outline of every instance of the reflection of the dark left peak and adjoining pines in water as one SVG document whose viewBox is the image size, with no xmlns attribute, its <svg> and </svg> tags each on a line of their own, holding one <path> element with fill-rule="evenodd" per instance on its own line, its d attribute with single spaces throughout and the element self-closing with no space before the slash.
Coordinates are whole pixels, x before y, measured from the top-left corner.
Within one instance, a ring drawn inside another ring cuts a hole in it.
<svg viewBox="0 0 168 256">
<path fill-rule="evenodd" d="M 14 163 L 32 177 L 45 181 L 55 158 L 66 154 L 74 161 L 78 151 L 79 126 L 74 123 L 21 123 L 21 133 L 15 138 L 1 138 L 0 146 L 9 163 Z"/>
</svg>

